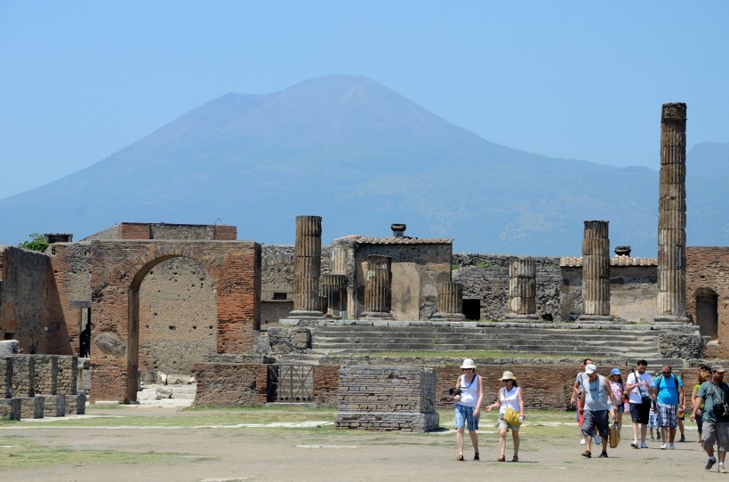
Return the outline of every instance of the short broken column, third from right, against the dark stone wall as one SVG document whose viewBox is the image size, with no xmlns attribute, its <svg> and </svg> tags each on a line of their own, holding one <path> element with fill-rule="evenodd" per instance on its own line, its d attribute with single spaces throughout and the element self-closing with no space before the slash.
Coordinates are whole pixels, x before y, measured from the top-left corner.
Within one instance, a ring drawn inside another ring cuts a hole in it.
<svg viewBox="0 0 729 482">
<path fill-rule="evenodd" d="M 509 312 L 505 320 L 537 320 L 537 264 L 533 259 L 509 262 Z"/>
</svg>

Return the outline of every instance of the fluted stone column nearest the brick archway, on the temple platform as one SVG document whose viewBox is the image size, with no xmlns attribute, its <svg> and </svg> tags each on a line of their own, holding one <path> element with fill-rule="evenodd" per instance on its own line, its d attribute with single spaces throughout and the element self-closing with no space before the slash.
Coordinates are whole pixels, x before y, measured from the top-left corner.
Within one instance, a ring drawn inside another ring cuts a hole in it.
<svg viewBox="0 0 729 482">
<path fill-rule="evenodd" d="M 293 247 L 293 311 L 289 318 L 322 318 L 319 271 L 322 266 L 322 218 L 296 217 Z"/>
</svg>

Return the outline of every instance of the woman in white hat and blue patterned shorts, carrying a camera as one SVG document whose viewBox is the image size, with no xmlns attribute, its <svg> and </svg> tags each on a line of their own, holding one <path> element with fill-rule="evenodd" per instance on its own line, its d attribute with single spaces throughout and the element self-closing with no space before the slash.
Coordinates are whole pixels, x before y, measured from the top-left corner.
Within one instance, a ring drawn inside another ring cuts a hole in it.
<svg viewBox="0 0 729 482">
<path fill-rule="evenodd" d="M 458 377 L 455 390 L 453 391 L 453 399 L 456 401 L 455 406 L 455 429 L 456 443 L 458 444 L 457 461 L 463 460 L 463 428 L 468 423 L 469 437 L 471 445 L 473 445 L 473 460 L 479 460 L 478 457 L 478 419 L 480 417 L 481 403 L 484 401 L 484 387 L 481 384 L 481 377 L 476 374 L 476 364 L 473 360 L 466 358 L 461 365 L 463 374 Z"/>
</svg>

